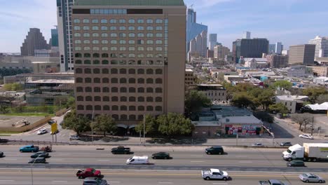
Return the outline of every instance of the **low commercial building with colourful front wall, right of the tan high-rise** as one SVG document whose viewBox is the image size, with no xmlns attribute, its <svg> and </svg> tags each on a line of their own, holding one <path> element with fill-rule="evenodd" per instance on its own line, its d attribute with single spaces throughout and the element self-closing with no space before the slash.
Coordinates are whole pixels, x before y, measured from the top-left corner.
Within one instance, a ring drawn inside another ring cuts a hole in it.
<svg viewBox="0 0 328 185">
<path fill-rule="evenodd" d="M 263 122 L 247 109 L 232 106 L 213 106 L 197 114 L 192 121 L 194 137 L 217 137 L 223 135 L 261 135 Z"/>
</svg>

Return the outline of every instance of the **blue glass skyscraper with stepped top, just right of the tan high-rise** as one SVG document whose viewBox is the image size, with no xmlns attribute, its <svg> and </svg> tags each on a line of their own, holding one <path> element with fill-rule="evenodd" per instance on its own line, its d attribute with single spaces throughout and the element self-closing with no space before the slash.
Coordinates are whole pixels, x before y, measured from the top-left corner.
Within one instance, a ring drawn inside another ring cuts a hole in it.
<svg viewBox="0 0 328 185">
<path fill-rule="evenodd" d="M 192 8 L 188 8 L 186 16 L 186 56 L 189 60 L 191 55 L 206 57 L 207 49 L 207 26 L 196 23 L 196 12 Z M 198 39 L 197 39 L 198 38 Z M 206 39 L 206 40 L 205 40 Z M 196 43 L 195 50 L 197 53 L 194 53 L 193 48 L 191 48 L 191 41 L 199 42 Z"/>
</svg>

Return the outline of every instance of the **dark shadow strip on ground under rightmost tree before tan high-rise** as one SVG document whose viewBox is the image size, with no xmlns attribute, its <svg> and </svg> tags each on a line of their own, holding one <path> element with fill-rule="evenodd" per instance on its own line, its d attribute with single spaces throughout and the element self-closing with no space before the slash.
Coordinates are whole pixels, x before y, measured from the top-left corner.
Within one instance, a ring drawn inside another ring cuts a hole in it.
<svg viewBox="0 0 328 185">
<path fill-rule="evenodd" d="M 146 140 L 149 144 L 204 144 L 207 142 L 206 138 L 152 138 Z"/>
</svg>

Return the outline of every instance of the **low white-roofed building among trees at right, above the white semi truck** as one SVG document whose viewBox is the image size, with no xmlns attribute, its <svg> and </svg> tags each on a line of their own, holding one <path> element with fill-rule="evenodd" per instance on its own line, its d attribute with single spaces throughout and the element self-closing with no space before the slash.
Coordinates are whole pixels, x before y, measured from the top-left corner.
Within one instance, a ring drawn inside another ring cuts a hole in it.
<svg viewBox="0 0 328 185">
<path fill-rule="evenodd" d="M 284 104 L 290 113 L 300 111 L 306 101 L 308 101 L 307 96 L 281 95 L 275 97 L 275 102 Z"/>
</svg>

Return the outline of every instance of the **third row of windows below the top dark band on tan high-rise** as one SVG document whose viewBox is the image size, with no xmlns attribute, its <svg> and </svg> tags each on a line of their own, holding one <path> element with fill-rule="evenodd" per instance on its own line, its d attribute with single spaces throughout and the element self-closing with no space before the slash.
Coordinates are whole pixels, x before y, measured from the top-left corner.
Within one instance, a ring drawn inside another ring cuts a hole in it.
<svg viewBox="0 0 328 185">
<path fill-rule="evenodd" d="M 113 38 L 116 38 L 116 37 L 121 37 L 121 38 L 125 38 L 125 37 L 130 37 L 130 38 L 135 38 L 137 36 L 137 38 L 142 38 L 142 37 L 148 37 L 148 38 L 152 38 L 152 37 L 157 37 L 157 38 L 161 38 L 163 37 L 163 34 L 162 33 L 156 33 L 156 34 L 153 34 L 153 33 L 147 33 L 147 34 L 144 34 L 144 33 L 138 33 L 138 34 L 135 34 L 135 33 L 129 33 L 129 34 L 125 34 L 125 33 L 110 33 L 110 34 L 107 34 L 107 33 L 93 33 L 93 34 L 90 34 L 90 33 L 75 33 L 74 36 L 75 37 L 90 37 L 90 36 L 93 36 L 93 37 L 113 37 Z"/>
</svg>

